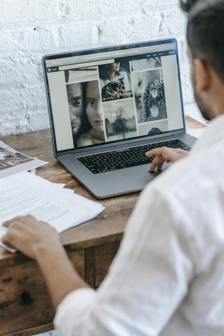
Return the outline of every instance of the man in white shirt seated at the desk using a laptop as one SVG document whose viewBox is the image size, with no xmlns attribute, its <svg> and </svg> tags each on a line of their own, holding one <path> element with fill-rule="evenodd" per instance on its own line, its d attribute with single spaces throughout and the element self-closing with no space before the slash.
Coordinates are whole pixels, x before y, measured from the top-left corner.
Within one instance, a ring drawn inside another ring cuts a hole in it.
<svg viewBox="0 0 224 336">
<path fill-rule="evenodd" d="M 5 223 L 3 243 L 40 265 L 59 336 L 224 335 L 224 1 L 185 8 L 195 99 L 215 120 L 189 156 L 145 188 L 99 289 L 76 274 L 49 225 L 29 216 Z M 155 154 L 150 170 L 186 155 L 147 153 Z"/>
</svg>

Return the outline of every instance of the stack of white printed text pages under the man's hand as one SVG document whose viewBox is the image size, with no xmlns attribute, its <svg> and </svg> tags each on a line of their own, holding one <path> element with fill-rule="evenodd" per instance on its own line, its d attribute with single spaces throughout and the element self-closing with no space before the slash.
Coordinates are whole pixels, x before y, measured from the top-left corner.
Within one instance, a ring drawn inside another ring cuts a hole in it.
<svg viewBox="0 0 224 336">
<path fill-rule="evenodd" d="M 60 233 L 94 218 L 104 209 L 102 204 L 63 186 L 27 172 L 0 180 L 0 245 L 6 248 L 1 237 L 7 228 L 2 223 L 16 216 L 31 214 Z"/>
</svg>

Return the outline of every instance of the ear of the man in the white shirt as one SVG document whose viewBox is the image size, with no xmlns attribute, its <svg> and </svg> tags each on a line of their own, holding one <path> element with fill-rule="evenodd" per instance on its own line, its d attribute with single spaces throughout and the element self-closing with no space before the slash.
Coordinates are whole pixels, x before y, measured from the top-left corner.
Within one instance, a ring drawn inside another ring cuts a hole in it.
<svg viewBox="0 0 224 336">
<path fill-rule="evenodd" d="M 199 58 L 194 63 L 194 89 L 197 93 L 203 93 L 210 83 L 209 67 Z"/>
</svg>

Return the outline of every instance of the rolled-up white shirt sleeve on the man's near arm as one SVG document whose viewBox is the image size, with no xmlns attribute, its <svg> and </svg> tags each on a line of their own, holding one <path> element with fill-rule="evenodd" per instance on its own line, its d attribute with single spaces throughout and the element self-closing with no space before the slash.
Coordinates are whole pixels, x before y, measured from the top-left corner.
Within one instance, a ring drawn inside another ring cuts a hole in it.
<svg viewBox="0 0 224 336">
<path fill-rule="evenodd" d="M 192 278 L 187 247 L 178 239 L 176 210 L 153 189 L 141 194 L 101 286 L 76 290 L 58 306 L 58 336 L 161 333 Z"/>
</svg>

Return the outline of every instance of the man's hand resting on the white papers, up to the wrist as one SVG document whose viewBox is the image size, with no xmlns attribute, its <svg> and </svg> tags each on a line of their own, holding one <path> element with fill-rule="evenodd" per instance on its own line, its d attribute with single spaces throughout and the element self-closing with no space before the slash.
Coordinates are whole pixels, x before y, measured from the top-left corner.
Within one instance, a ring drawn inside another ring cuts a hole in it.
<svg viewBox="0 0 224 336">
<path fill-rule="evenodd" d="M 2 237 L 2 243 L 16 248 L 29 258 L 36 260 L 39 249 L 60 245 L 56 230 L 31 215 L 15 217 L 3 223 L 3 226 L 8 227 L 8 232 Z"/>
</svg>

